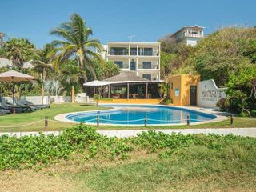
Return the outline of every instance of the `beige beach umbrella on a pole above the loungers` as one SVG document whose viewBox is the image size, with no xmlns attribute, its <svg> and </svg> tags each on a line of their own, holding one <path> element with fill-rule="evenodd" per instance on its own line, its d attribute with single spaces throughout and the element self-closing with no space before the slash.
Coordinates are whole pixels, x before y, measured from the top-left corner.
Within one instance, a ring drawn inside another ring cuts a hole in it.
<svg viewBox="0 0 256 192">
<path fill-rule="evenodd" d="M 28 74 L 22 74 L 15 70 L 10 70 L 7 72 L 4 72 L 0 74 L 0 82 L 12 82 L 13 83 L 13 107 L 14 107 L 14 83 L 15 82 L 31 82 L 35 80 L 33 76 L 30 76 Z M 15 114 L 15 108 L 14 108 L 14 114 Z"/>
</svg>

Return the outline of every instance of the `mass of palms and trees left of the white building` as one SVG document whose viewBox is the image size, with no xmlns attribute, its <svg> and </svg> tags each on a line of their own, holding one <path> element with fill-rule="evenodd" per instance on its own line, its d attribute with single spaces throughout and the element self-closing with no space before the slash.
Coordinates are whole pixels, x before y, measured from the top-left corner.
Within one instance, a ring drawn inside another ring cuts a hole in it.
<svg viewBox="0 0 256 192">
<path fill-rule="evenodd" d="M 23 38 L 10 38 L 0 46 L 0 57 L 13 62 L 11 67 L 2 67 L 1 72 L 13 69 L 38 78 L 38 83 L 17 83 L 18 97 L 54 93 L 70 95 L 74 101 L 74 94 L 82 92 L 83 82 L 119 73 L 116 64 L 102 59 L 102 45 L 97 38 L 90 38 L 93 30 L 80 15 L 72 14 L 70 21 L 55 27 L 50 34 L 56 39 L 42 49 Z M 1 90 L 3 95 L 11 95 L 8 83 L 3 83 Z"/>
</svg>

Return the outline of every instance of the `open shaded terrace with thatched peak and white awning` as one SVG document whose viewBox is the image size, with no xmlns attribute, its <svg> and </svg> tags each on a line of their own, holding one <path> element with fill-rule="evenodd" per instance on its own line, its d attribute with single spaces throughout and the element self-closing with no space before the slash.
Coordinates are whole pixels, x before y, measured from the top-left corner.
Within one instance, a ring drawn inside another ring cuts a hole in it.
<svg viewBox="0 0 256 192">
<path fill-rule="evenodd" d="M 141 78 L 135 72 L 122 71 L 102 81 L 86 82 L 84 86 L 90 97 L 99 94 L 101 98 L 160 98 L 158 84 L 161 82 Z"/>
</svg>

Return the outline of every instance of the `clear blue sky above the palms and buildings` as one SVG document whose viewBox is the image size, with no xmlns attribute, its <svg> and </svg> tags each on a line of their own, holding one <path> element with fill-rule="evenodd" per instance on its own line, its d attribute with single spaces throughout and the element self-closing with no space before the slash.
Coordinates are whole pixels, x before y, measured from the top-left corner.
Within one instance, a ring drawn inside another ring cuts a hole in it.
<svg viewBox="0 0 256 192">
<path fill-rule="evenodd" d="M 255 0 L 0 0 L 0 31 L 28 38 L 38 48 L 56 39 L 50 30 L 78 13 L 93 29 L 91 38 L 156 42 L 182 26 L 256 26 Z"/>
</svg>

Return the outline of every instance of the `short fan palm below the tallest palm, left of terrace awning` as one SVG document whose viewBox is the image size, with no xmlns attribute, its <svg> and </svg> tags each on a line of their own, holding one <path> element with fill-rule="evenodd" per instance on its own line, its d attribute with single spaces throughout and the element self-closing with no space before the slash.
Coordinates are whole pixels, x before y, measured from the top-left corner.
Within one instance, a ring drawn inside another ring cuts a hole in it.
<svg viewBox="0 0 256 192">
<path fill-rule="evenodd" d="M 66 90 L 71 86 L 71 101 L 74 102 L 74 87 L 79 85 L 78 78 L 84 78 L 86 71 L 78 66 L 76 60 L 69 60 L 61 68 L 62 81 L 67 84 Z"/>
</svg>

